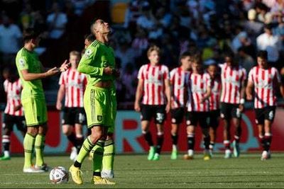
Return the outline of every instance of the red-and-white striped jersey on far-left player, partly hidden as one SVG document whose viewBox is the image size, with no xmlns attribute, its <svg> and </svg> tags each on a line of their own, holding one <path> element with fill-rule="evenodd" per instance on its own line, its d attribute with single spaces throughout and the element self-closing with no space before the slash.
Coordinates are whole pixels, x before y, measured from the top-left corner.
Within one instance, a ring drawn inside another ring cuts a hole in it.
<svg viewBox="0 0 284 189">
<path fill-rule="evenodd" d="M 11 83 L 6 79 L 4 81 L 4 90 L 7 95 L 7 104 L 4 110 L 4 113 L 9 115 L 18 115 L 23 116 L 23 107 L 20 110 L 15 111 L 14 108 L 18 105 L 21 105 L 21 91 L 23 86 L 21 84 L 21 80 Z"/>
</svg>

